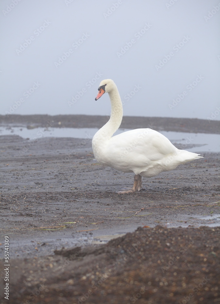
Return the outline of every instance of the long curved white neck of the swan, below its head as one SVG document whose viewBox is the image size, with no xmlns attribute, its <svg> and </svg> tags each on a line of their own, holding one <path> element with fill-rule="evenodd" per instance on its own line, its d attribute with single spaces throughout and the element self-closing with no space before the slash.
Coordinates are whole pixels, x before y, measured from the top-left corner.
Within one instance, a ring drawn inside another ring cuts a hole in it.
<svg viewBox="0 0 220 304">
<path fill-rule="evenodd" d="M 121 98 L 117 86 L 108 93 L 111 101 L 111 116 L 109 121 L 96 133 L 97 136 L 102 136 L 104 140 L 108 140 L 120 127 L 123 108 Z"/>
</svg>

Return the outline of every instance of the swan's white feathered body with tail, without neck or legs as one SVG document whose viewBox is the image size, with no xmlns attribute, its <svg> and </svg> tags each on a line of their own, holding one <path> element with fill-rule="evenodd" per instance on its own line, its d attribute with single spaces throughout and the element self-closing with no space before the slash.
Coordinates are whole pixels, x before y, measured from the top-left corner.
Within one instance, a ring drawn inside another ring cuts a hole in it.
<svg viewBox="0 0 220 304">
<path fill-rule="evenodd" d="M 179 164 L 201 157 L 177 149 L 168 138 L 152 129 L 121 133 L 107 140 L 103 147 L 100 154 L 102 164 L 145 177 L 173 170 Z"/>
</svg>

